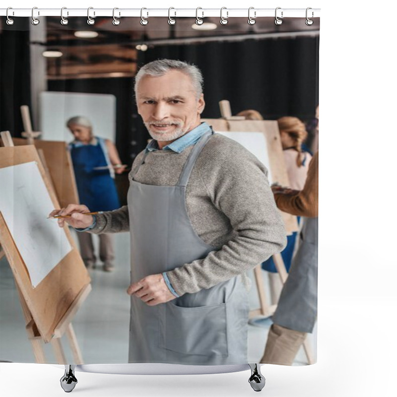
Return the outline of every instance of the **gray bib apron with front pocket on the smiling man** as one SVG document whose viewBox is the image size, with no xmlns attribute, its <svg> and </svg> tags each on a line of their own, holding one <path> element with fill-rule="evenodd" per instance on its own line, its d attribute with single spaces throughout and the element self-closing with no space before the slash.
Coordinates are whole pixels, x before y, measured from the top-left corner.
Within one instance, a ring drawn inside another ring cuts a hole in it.
<svg viewBox="0 0 397 397">
<path fill-rule="evenodd" d="M 154 186 L 130 174 L 131 282 L 205 258 L 214 248 L 196 234 L 186 209 L 186 186 L 201 149 L 192 149 L 176 186 Z M 247 363 L 248 294 L 241 276 L 155 306 L 131 297 L 129 362 Z"/>
</svg>

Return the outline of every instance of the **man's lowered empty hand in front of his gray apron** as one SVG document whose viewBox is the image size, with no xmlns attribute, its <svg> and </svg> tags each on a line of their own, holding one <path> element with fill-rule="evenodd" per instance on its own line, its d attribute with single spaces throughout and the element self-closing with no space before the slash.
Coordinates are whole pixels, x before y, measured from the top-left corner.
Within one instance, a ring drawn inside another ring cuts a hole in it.
<svg viewBox="0 0 397 397">
<path fill-rule="evenodd" d="M 140 298 L 148 306 L 155 306 L 176 298 L 167 287 L 162 274 L 152 274 L 134 282 L 127 289 L 127 293 Z"/>
</svg>

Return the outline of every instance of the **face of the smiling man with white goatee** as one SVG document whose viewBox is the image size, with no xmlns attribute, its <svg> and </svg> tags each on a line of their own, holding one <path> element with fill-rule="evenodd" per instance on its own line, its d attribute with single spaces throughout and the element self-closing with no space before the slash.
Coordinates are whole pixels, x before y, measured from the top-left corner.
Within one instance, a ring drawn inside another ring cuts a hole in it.
<svg viewBox="0 0 397 397">
<path fill-rule="evenodd" d="M 185 73 L 171 69 L 163 76 L 146 74 L 136 91 L 138 113 L 153 139 L 172 142 L 199 125 L 204 98 L 201 94 L 197 99 Z"/>
</svg>

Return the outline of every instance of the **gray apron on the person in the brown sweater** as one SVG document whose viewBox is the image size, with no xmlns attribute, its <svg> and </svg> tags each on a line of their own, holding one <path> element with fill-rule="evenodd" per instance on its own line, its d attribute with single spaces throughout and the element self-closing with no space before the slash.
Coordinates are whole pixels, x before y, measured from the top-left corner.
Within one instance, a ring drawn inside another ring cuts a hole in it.
<svg viewBox="0 0 397 397">
<path fill-rule="evenodd" d="M 272 320 L 290 330 L 313 332 L 317 318 L 319 218 L 302 219 L 299 247 Z"/>
</svg>

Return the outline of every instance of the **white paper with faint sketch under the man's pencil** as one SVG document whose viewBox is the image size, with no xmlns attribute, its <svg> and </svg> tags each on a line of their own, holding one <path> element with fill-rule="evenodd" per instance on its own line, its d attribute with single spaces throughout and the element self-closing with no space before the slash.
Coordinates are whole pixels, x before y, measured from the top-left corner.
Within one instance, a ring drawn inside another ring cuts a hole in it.
<svg viewBox="0 0 397 397">
<path fill-rule="evenodd" d="M 33 288 L 71 250 L 36 162 L 0 169 L 0 211 L 25 263 Z"/>
</svg>

